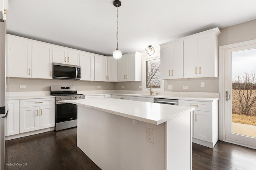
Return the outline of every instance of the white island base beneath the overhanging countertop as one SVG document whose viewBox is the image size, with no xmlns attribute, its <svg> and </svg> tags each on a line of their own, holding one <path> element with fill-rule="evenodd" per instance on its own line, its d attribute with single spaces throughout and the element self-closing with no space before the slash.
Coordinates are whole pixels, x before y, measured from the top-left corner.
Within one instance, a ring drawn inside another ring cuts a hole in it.
<svg viewBox="0 0 256 170">
<path fill-rule="evenodd" d="M 194 109 L 155 125 L 73 101 L 78 104 L 77 146 L 102 170 L 192 169 Z M 146 128 L 154 129 L 154 143 L 146 141 Z"/>
</svg>

